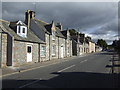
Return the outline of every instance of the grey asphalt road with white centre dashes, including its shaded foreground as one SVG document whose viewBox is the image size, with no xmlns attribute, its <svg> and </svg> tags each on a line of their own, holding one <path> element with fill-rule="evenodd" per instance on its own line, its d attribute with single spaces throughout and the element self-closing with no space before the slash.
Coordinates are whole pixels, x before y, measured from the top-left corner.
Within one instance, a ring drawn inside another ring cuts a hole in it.
<svg viewBox="0 0 120 90">
<path fill-rule="evenodd" d="M 111 57 L 111 52 L 94 53 L 5 76 L 2 88 L 115 88 L 117 76 L 106 67 Z"/>
</svg>

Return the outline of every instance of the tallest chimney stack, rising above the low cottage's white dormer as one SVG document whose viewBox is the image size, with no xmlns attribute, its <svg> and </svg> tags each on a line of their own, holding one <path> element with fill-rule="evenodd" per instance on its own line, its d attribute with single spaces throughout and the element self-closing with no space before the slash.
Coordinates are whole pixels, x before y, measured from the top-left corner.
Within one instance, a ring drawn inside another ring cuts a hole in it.
<svg viewBox="0 0 120 90">
<path fill-rule="evenodd" d="M 30 20 L 35 18 L 35 12 L 31 10 L 27 10 L 25 13 L 25 23 L 28 26 L 28 29 L 30 29 Z"/>
</svg>

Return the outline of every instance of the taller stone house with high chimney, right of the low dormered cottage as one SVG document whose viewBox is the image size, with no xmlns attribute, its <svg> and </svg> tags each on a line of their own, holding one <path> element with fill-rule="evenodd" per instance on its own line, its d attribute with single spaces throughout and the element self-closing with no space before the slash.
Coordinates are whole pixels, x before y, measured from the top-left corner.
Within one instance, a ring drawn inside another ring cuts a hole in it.
<svg viewBox="0 0 120 90">
<path fill-rule="evenodd" d="M 55 22 L 44 22 L 35 18 L 35 12 L 27 10 L 25 23 L 38 38 L 46 42 L 41 46 L 41 62 L 65 57 L 65 37 L 61 33 L 62 25 L 55 25 Z"/>
</svg>

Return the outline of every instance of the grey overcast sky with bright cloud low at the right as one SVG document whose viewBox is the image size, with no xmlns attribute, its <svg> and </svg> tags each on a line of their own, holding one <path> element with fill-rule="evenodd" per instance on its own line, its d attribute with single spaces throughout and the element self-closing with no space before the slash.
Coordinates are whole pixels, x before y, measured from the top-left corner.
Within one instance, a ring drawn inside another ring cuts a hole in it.
<svg viewBox="0 0 120 90">
<path fill-rule="evenodd" d="M 118 36 L 117 2 L 3 2 L 2 19 L 24 21 L 27 9 L 35 10 L 37 19 L 61 22 L 63 29 L 79 29 L 93 41 L 110 44 Z"/>
</svg>

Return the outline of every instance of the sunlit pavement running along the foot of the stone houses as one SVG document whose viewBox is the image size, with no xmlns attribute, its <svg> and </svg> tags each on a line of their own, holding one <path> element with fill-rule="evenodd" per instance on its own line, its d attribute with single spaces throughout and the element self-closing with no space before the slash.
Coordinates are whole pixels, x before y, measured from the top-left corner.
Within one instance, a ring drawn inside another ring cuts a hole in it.
<svg viewBox="0 0 120 90">
<path fill-rule="evenodd" d="M 81 55 L 81 57 L 83 57 L 83 56 L 86 56 L 86 54 Z M 13 67 L 13 66 L 5 67 L 5 68 L 2 68 L 2 75 L 0 75 L 0 77 L 16 74 L 19 72 L 25 72 L 25 71 L 37 69 L 40 67 L 45 67 L 45 66 L 61 63 L 61 62 L 65 62 L 65 61 L 75 59 L 78 57 L 80 57 L 80 56 L 72 56 L 72 57 L 67 57 L 67 58 L 63 58 L 63 59 L 53 59 L 53 60 L 45 61 L 45 62 L 28 63 L 26 65 L 21 65 L 19 67 Z"/>
</svg>

